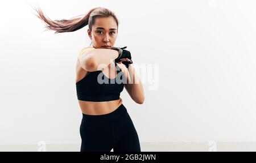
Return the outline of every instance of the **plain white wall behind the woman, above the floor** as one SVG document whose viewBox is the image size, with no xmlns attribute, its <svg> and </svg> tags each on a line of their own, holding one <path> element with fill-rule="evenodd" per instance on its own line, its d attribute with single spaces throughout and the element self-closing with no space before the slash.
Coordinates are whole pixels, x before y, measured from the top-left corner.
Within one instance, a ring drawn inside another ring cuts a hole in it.
<svg viewBox="0 0 256 163">
<path fill-rule="evenodd" d="M 144 104 L 121 93 L 141 141 L 256 141 L 256 1 L 27 2 L 53 20 L 117 14 L 116 45 L 148 66 L 137 68 Z M 0 144 L 80 143 L 75 65 L 88 26 L 43 32 L 27 2 L 0 1 Z"/>
</svg>

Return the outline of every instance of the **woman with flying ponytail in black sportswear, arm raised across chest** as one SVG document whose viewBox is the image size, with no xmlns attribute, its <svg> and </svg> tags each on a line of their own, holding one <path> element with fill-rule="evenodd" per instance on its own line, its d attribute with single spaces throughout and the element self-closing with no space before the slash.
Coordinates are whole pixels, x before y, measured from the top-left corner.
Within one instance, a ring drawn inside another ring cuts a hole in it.
<svg viewBox="0 0 256 163">
<path fill-rule="evenodd" d="M 80 18 L 53 21 L 40 8 L 36 12 L 55 33 L 89 26 L 92 44 L 81 50 L 76 64 L 76 91 L 82 111 L 80 151 L 140 152 L 137 131 L 119 95 L 125 87 L 135 102 L 143 104 L 143 85 L 131 64 L 130 52 L 114 47 L 118 33 L 115 14 L 97 7 Z"/>
</svg>

